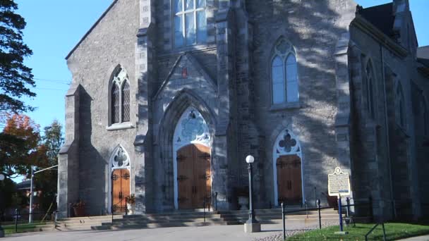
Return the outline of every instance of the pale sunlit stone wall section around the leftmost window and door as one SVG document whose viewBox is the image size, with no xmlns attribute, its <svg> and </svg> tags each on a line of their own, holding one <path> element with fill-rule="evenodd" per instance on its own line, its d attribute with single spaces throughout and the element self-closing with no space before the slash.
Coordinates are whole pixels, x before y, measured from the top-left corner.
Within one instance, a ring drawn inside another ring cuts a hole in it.
<svg viewBox="0 0 429 241">
<path fill-rule="evenodd" d="M 126 14 L 124 14 L 126 13 Z M 107 130 L 109 126 L 109 80 L 116 66 L 126 69 L 131 86 L 131 123 L 135 123 L 135 35 L 138 32 L 138 1 L 118 1 L 69 56 L 68 68 L 73 85 L 80 85 L 80 125 L 78 158 L 74 180 L 79 180 L 79 199 L 86 203 L 87 214 L 106 214 L 110 210 L 109 157 L 121 144 L 135 166 L 134 128 Z M 68 127 L 66 127 L 68 129 Z M 71 175 L 71 173 L 68 173 Z M 134 192 L 131 171 L 131 192 Z M 68 200 L 75 202 L 76 200 Z"/>
</svg>

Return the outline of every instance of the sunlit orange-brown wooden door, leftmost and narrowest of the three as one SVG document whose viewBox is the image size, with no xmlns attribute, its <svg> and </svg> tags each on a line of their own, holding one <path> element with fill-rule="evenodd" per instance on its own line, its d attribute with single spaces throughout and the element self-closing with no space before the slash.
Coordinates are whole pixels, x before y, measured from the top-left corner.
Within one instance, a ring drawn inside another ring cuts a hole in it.
<svg viewBox="0 0 429 241">
<path fill-rule="evenodd" d="M 111 173 L 112 212 L 123 214 L 126 210 L 126 197 L 130 195 L 130 171 L 116 169 Z"/>
</svg>

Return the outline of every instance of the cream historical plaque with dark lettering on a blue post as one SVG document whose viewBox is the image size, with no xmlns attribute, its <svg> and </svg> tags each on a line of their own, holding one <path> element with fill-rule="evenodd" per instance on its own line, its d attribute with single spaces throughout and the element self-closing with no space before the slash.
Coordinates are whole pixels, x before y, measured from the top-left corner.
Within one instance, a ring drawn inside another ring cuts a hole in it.
<svg viewBox="0 0 429 241">
<path fill-rule="evenodd" d="M 327 175 L 327 190 L 330 196 L 349 195 L 349 173 L 343 173 L 339 167 L 335 168 L 334 173 Z"/>
</svg>

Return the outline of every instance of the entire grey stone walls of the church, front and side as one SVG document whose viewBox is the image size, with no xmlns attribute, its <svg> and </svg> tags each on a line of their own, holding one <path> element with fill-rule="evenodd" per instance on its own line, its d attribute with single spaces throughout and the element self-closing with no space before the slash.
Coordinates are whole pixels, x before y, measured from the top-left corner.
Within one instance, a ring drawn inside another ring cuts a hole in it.
<svg viewBox="0 0 429 241">
<path fill-rule="evenodd" d="M 212 197 L 218 193 L 219 209 L 236 209 L 235 188 L 248 185 L 248 154 L 256 159 L 256 208 L 274 205 L 274 142 L 287 128 L 301 143 L 303 199 L 310 206 L 315 199 L 326 204 L 327 175 L 340 166 L 351 174 L 354 202 L 372 196 L 377 216 L 419 213 L 429 166 L 425 136 L 416 135 L 425 124 L 414 118 L 411 82 L 427 98 L 427 78 L 416 71 L 412 44 L 403 37 L 397 40 L 411 46 L 409 54 L 403 47 L 380 46 L 351 24 L 354 1 L 207 0 L 207 44 L 180 49 L 173 47 L 170 0 L 114 3 L 68 57 L 79 90 L 67 97 L 78 101 L 67 101 L 71 125 L 66 121 L 59 156 L 64 215 L 73 199 L 83 199 L 88 214 L 109 211 L 109 158 L 119 144 L 131 158 L 137 211 L 174 209 L 172 138 L 189 106 L 210 128 Z M 395 30 L 403 32 L 410 15 L 397 15 Z M 299 101 L 273 106 L 270 63 L 279 39 L 296 51 Z M 376 79 L 375 118 L 365 109 L 369 59 Z M 119 65 L 131 85 L 131 127 L 107 130 L 109 80 Z M 400 128 L 397 81 L 407 111 Z M 411 204 L 401 206 L 404 200 Z"/>
</svg>

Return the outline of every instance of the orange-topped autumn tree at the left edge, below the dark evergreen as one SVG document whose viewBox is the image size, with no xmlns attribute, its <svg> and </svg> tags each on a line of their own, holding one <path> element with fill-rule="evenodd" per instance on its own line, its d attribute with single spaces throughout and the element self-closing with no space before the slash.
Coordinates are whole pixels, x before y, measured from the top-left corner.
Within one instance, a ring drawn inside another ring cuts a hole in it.
<svg viewBox="0 0 429 241">
<path fill-rule="evenodd" d="M 46 147 L 40 140 L 39 125 L 30 117 L 9 116 L 0 133 L 0 172 L 14 178 L 29 176 L 31 166 L 47 166 Z"/>
</svg>

